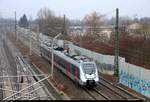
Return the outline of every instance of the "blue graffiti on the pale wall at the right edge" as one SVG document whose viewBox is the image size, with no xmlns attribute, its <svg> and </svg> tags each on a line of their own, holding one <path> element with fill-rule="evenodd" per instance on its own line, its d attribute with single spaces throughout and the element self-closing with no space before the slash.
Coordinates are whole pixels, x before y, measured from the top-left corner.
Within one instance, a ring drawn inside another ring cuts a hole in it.
<svg viewBox="0 0 150 102">
<path fill-rule="evenodd" d="M 123 70 L 121 70 L 119 74 L 120 83 L 132 88 L 133 90 L 145 96 L 150 97 L 150 81 L 135 77 L 134 75 L 124 72 Z"/>
</svg>

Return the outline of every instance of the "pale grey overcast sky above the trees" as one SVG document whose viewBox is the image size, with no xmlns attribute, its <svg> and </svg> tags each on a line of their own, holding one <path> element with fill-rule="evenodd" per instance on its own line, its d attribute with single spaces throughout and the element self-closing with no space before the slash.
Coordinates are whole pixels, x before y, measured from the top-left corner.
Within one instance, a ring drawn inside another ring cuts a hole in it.
<svg viewBox="0 0 150 102">
<path fill-rule="evenodd" d="M 0 15 L 13 17 L 17 12 L 17 19 L 24 13 L 32 19 L 37 17 L 40 8 L 49 8 L 56 15 L 66 16 L 70 19 L 82 19 L 86 14 L 97 11 L 101 14 L 109 13 L 119 8 L 121 16 L 150 17 L 150 0 L 0 0 Z"/>
</svg>

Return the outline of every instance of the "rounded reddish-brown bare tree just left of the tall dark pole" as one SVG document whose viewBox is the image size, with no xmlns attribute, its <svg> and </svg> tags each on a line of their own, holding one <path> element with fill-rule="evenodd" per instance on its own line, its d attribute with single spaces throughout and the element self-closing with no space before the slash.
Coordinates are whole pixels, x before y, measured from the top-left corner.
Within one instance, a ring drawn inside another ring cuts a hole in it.
<svg viewBox="0 0 150 102">
<path fill-rule="evenodd" d="M 96 42 L 107 43 L 106 35 L 101 32 L 105 20 L 105 16 L 98 12 L 92 12 L 84 17 L 83 22 L 86 28 L 86 35 L 84 37 L 87 37 L 89 41 L 91 40 L 91 44 Z"/>
</svg>

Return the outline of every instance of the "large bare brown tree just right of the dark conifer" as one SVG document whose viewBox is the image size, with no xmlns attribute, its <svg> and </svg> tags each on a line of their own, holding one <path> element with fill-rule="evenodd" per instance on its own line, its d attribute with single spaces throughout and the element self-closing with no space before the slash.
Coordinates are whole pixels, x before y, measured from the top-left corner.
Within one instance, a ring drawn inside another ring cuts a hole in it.
<svg viewBox="0 0 150 102">
<path fill-rule="evenodd" d="M 63 32 L 63 17 L 55 16 L 54 12 L 48 8 L 41 8 L 38 11 L 37 16 L 40 32 L 48 34 L 51 37 Z"/>
</svg>

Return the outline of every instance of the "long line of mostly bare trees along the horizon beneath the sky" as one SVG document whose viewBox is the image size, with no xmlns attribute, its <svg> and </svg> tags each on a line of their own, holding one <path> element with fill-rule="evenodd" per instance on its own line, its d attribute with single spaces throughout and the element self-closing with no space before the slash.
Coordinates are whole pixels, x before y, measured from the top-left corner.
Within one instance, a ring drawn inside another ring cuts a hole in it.
<svg viewBox="0 0 150 102">
<path fill-rule="evenodd" d="M 114 13 L 115 16 L 115 13 Z M 19 19 L 19 26 L 28 28 L 29 20 L 24 14 Z M 119 17 L 119 25 L 130 25 L 132 23 L 140 23 L 142 24 L 141 31 L 149 31 L 150 30 L 150 18 L 134 18 L 131 19 L 128 16 Z M 101 29 L 97 29 L 101 26 L 109 26 L 115 25 L 115 17 L 107 18 L 107 16 L 100 14 L 99 12 L 91 12 L 86 14 L 83 19 L 69 19 L 64 15 L 56 16 L 54 11 L 48 8 L 41 8 L 37 12 L 37 19 L 31 21 L 32 24 L 36 25 L 36 29 L 39 28 L 39 31 L 47 34 L 49 36 L 55 36 L 58 33 L 63 33 L 64 36 L 70 34 L 70 26 L 81 26 L 81 27 L 89 27 L 90 29 L 86 29 L 85 34 L 92 34 L 94 37 L 98 36 L 98 33 Z M 70 36 L 70 35 L 69 35 Z"/>
</svg>

